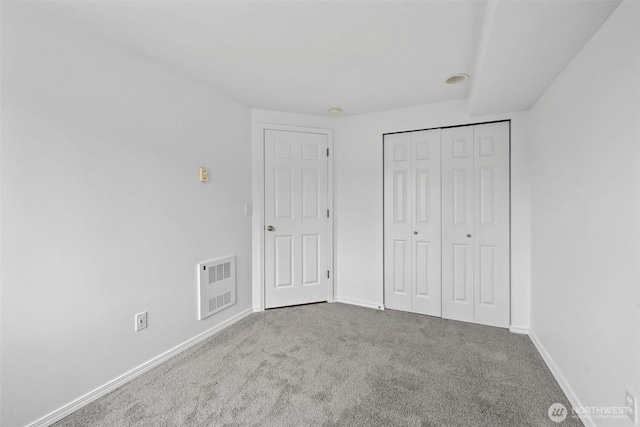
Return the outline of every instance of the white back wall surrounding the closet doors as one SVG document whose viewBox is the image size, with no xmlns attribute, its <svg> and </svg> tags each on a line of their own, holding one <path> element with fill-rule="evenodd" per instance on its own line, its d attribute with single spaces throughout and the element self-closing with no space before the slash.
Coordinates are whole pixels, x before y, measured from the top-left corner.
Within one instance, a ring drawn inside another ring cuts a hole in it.
<svg viewBox="0 0 640 427">
<path fill-rule="evenodd" d="M 350 116 L 336 121 L 337 298 L 383 304 L 382 135 L 511 119 L 511 324 L 529 326 L 529 163 L 527 114 L 470 117 L 465 101 Z"/>
</svg>

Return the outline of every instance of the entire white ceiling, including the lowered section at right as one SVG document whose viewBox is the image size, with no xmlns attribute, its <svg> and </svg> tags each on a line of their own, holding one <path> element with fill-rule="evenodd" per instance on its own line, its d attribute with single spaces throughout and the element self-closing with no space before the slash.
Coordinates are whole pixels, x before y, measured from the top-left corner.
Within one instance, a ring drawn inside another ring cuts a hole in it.
<svg viewBox="0 0 640 427">
<path fill-rule="evenodd" d="M 43 3 L 255 108 L 345 115 L 470 98 L 530 108 L 619 1 Z M 445 85 L 453 73 L 469 82 Z"/>
</svg>

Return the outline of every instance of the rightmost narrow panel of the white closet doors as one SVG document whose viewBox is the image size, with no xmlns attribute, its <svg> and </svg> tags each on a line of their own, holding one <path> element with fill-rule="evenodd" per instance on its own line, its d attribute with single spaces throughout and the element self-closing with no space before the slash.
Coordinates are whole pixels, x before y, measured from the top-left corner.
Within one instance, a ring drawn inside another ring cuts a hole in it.
<svg viewBox="0 0 640 427">
<path fill-rule="evenodd" d="M 509 326 L 509 123 L 474 126 L 475 322 Z"/>
</svg>

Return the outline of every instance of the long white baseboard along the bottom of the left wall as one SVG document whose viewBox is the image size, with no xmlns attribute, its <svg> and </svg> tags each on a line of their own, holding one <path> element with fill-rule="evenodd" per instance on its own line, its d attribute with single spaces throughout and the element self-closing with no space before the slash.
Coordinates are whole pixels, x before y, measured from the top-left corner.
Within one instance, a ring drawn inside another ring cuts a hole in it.
<svg viewBox="0 0 640 427">
<path fill-rule="evenodd" d="M 123 374 L 117 378 L 115 378 L 114 380 L 109 381 L 108 383 L 104 384 L 103 386 L 98 387 L 97 389 L 85 394 L 84 396 L 74 400 L 71 403 L 68 403 L 66 405 L 64 405 L 63 407 L 53 411 L 52 413 L 50 413 L 49 415 L 46 415 L 42 418 L 40 418 L 39 420 L 29 424 L 28 427 L 46 427 L 46 426 L 50 426 L 51 424 L 60 421 L 61 419 L 63 419 L 64 417 L 66 417 L 67 415 L 72 414 L 73 412 L 77 411 L 78 409 L 82 408 L 85 405 L 88 405 L 89 403 L 93 402 L 94 400 L 104 396 L 105 394 L 109 393 L 112 390 L 115 390 L 116 388 L 124 385 L 125 383 L 131 381 L 132 379 L 136 378 L 137 376 L 147 372 L 148 370 L 158 366 L 159 364 L 169 360 L 170 358 L 176 356 L 178 353 L 181 353 L 183 351 L 185 351 L 186 349 L 188 349 L 189 347 L 193 347 L 194 345 L 198 344 L 199 342 L 204 341 L 205 339 L 209 338 L 210 336 L 216 334 L 217 332 L 220 332 L 221 330 L 233 325 L 234 323 L 238 322 L 239 320 L 244 319 L 245 317 L 247 317 L 248 315 L 253 313 L 253 309 L 249 308 L 235 316 L 233 316 L 231 319 L 228 319 L 216 326 L 214 326 L 213 328 L 201 333 L 200 335 L 196 335 L 195 337 L 183 342 L 182 344 L 177 345 L 176 347 L 172 348 L 171 350 L 168 350 L 164 353 L 162 353 L 159 356 L 154 357 L 153 359 L 143 363 L 142 365 L 130 370 L 129 372 L 127 372 L 126 374 Z"/>
</svg>

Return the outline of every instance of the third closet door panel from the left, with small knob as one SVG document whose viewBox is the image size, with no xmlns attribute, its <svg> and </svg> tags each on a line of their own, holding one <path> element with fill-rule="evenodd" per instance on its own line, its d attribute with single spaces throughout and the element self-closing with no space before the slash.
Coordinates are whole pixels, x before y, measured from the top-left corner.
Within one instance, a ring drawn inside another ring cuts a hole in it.
<svg viewBox="0 0 640 427">
<path fill-rule="evenodd" d="M 473 126 L 442 130 L 442 317 L 474 320 Z"/>
</svg>

